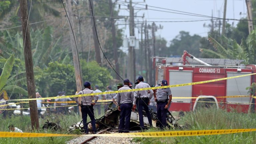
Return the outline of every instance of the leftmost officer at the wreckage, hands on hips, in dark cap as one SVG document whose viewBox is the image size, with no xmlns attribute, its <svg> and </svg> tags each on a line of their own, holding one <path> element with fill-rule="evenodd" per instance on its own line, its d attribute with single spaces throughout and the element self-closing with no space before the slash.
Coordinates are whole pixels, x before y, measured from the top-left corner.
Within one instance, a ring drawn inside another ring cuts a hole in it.
<svg viewBox="0 0 256 144">
<path fill-rule="evenodd" d="M 84 87 L 85 87 L 85 89 L 79 91 L 78 93 L 76 93 L 76 95 L 86 94 L 86 93 L 95 93 L 91 89 L 90 82 L 86 81 L 84 83 Z M 94 97 L 95 97 L 95 100 L 94 100 L 94 102 L 92 102 Z M 95 121 L 95 118 L 94 118 L 93 106 L 98 101 L 99 96 L 98 95 L 82 96 L 82 103 L 80 103 L 78 101 L 78 97 L 74 97 L 74 99 L 75 99 L 75 101 L 78 105 L 81 105 L 82 119 L 83 119 L 85 134 L 88 134 L 88 126 L 86 125 L 86 123 L 87 123 L 87 114 L 89 115 L 89 117 L 92 121 L 91 124 L 92 124 L 93 133 L 96 133 L 97 130 L 96 130 L 96 121 Z"/>
</svg>

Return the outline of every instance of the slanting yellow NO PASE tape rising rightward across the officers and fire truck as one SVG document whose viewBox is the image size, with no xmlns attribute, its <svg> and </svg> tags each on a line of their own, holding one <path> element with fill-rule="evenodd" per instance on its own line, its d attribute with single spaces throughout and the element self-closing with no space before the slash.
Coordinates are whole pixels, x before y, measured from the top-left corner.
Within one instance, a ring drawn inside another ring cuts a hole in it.
<svg viewBox="0 0 256 144">
<path fill-rule="evenodd" d="M 111 93 L 121 93 L 121 92 L 130 92 L 130 91 L 151 90 L 151 89 L 158 89 L 158 88 L 171 88 L 171 87 L 180 87 L 180 86 L 196 85 L 196 84 L 203 84 L 203 83 L 227 80 L 227 79 L 244 77 L 244 76 L 249 76 L 249 75 L 254 75 L 254 74 L 256 74 L 256 73 L 243 74 L 243 75 L 238 75 L 238 76 L 224 77 L 224 78 L 205 80 L 205 81 L 198 81 L 198 82 L 191 82 L 191 83 L 182 83 L 182 84 L 174 84 L 174 85 L 167 85 L 167 86 L 158 86 L 158 87 L 147 87 L 147 88 L 137 88 L 137 89 L 127 89 L 127 90 L 116 90 L 116 91 L 106 91 L 106 92 L 98 92 L 98 93 L 86 93 L 86 94 L 79 94 L 79 95 L 66 95 L 66 96 L 58 96 L 58 97 L 54 96 L 54 97 L 11 99 L 11 100 L 12 101 L 46 100 L 46 99 L 83 97 L 83 96 L 102 95 L 102 94 L 111 94 Z M 5 101 L 3 101 L 3 102 L 5 102 Z"/>
</svg>

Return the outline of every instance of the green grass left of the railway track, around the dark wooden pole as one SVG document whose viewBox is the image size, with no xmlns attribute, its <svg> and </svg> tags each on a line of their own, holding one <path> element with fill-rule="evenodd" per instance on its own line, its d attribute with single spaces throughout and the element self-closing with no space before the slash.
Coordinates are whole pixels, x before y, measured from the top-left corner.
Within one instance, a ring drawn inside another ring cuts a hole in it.
<svg viewBox="0 0 256 144">
<path fill-rule="evenodd" d="M 94 108 L 94 114 L 96 118 L 100 118 L 104 115 L 104 108 L 101 108 L 101 115 L 98 115 L 98 111 Z M 55 122 L 62 127 L 62 131 L 51 131 L 41 129 L 43 124 L 49 120 L 50 122 Z M 0 131 L 7 131 L 8 126 L 13 124 L 15 127 L 21 129 L 23 132 L 36 132 L 36 133 L 62 133 L 69 134 L 67 131 L 69 126 L 81 121 L 80 115 L 73 113 L 73 115 L 63 115 L 63 114 L 51 114 L 45 116 L 43 119 L 39 118 L 40 129 L 38 131 L 31 130 L 30 116 L 27 115 L 13 115 L 11 117 L 3 118 L 0 115 L 1 127 Z M 87 117 L 87 122 L 91 121 L 89 116 Z M 74 131 L 72 134 L 81 134 L 80 131 Z M 0 144 L 64 144 L 66 141 L 73 139 L 74 137 L 40 137 L 40 138 L 0 138 Z"/>
</svg>

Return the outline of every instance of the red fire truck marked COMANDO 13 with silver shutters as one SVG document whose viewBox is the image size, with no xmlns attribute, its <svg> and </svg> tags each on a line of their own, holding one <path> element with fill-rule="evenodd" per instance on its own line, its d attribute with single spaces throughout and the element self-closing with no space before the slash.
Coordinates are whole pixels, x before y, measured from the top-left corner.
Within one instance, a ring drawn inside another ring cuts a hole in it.
<svg viewBox="0 0 256 144">
<path fill-rule="evenodd" d="M 153 58 L 156 83 L 163 79 L 169 85 L 198 82 L 256 72 L 256 65 L 244 65 L 243 60 L 195 58 L 184 51 L 181 58 Z M 255 75 L 196 85 L 171 88 L 173 97 L 214 96 L 220 108 L 248 112 L 251 97 L 218 98 L 219 96 L 249 95 L 246 87 L 255 82 Z M 195 99 L 173 99 L 170 111 L 191 111 Z M 253 103 L 254 100 L 252 101 Z"/>
</svg>

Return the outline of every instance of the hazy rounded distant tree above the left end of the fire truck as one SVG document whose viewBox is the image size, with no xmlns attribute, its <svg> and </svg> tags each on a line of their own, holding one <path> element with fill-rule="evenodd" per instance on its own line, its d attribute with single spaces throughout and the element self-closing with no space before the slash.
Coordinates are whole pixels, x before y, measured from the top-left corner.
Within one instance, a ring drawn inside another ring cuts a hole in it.
<svg viewBox="0 0 256 144">
<path fill-rule="evenodd" d="M 180 31 L 173 40 L 171 40 L 171 45 L 169 51 L 171 55 L 181 56 L 183 51 L 186 50 L 193 54 L 195 57 L 200 57 L 199 53 L 199 42 L 201 37 L 199 35 L 190 36 L 189 32 Z"/>
</svg>

